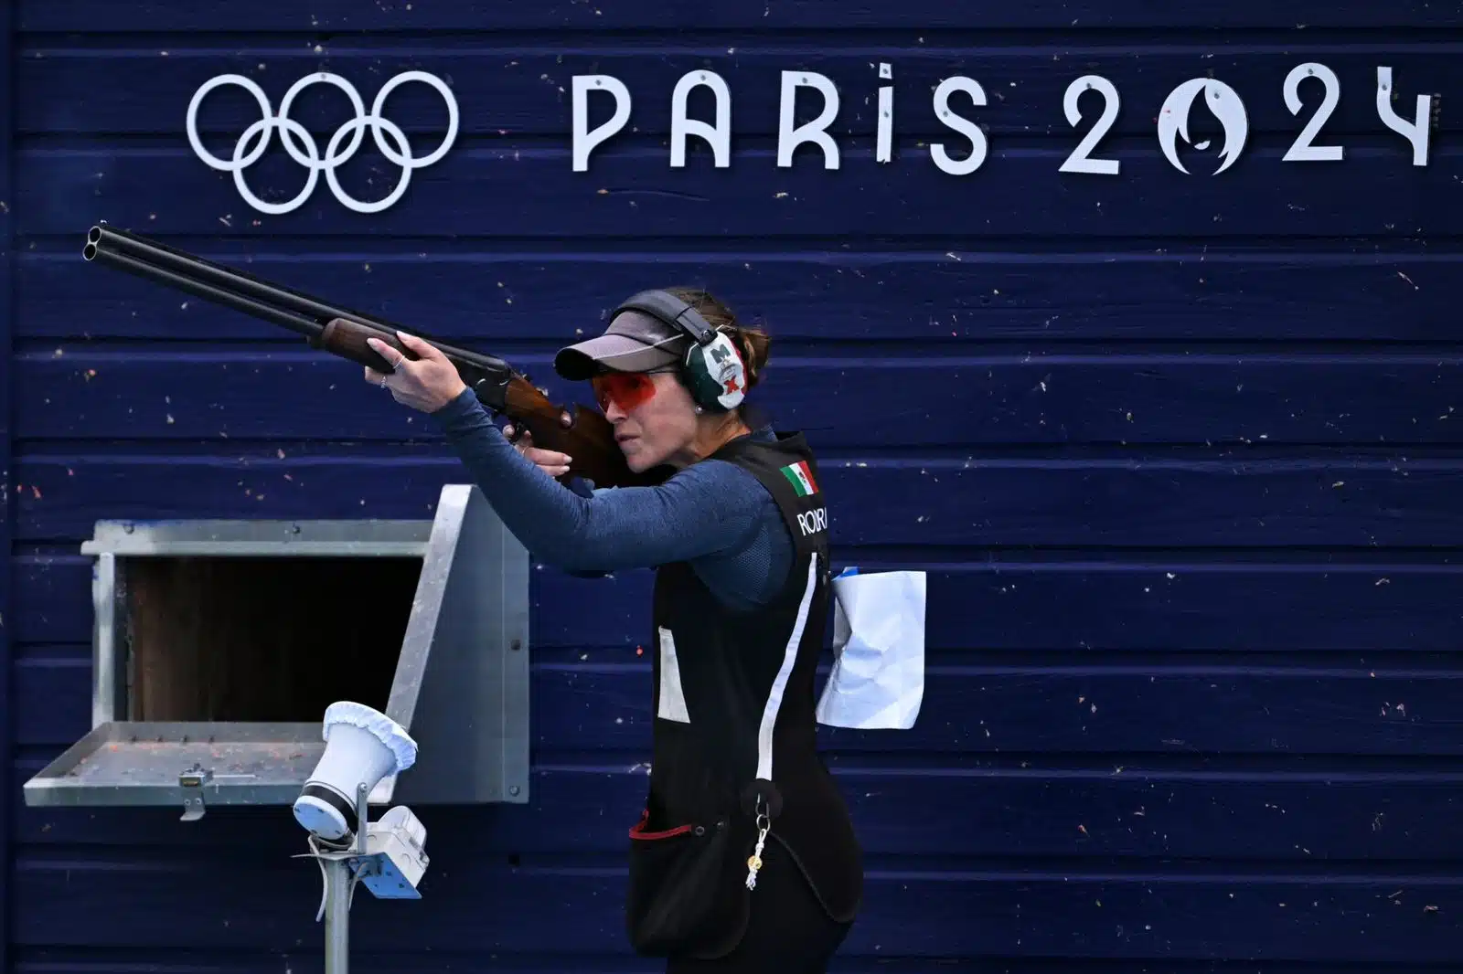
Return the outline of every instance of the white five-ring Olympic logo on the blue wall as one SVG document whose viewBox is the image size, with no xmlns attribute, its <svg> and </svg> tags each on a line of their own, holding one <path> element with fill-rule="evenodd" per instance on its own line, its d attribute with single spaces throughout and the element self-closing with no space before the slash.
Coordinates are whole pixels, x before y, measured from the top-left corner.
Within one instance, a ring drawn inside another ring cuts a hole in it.
<svg viewBox="0 0 1463 974">
<path fill-rule="evenodd" d="M 380 107 L 386 102 L 386 95 L 394 92 L 399 85 L 414 80 L 435 88 L 448 105 L 446 137 L 432 155 L 420 159 L 411 155 L 411 145 L 407 142 L 407 133 L 391 120 L 383 118 L 380 114 Z M 356 108 L 356 117 L 336 129 L 335 135 L 331 136 L 331 142 L 325 146 L 325 158 L 320 158 L 320 148 L 316 145 L 315 139 L 304 129 L 304 126 L 290 117 L 290 105 L 294 104 L 294 99 L 301 91 L 316 83 L 326 83 L 339 88 L 345 92 L 347 98 L 351 99 L 351 105 Z M 253 95 L 255 101 L 259 102 L 259 111 L 263 116 L 259 121 L 255 121 L 244 129 L 243 135 L 238 136 L 238 142 L 234 143 L 234 155 L 230 159 L 221 159 L 208 152 L 198 136 L 198 107 L 211 91 L 224 85 L 238 85 Z M 279 140 L 284 142 L 284 148 L 290 154 L 290 158 L 310 171 L 300 195 L 284 203 L 266 203 L 255 196 L 253 190 L 250 190 L 244 183 L 244 170 L 257 162 L 265 154 L 269 148 L 269 137 L 274 135 L 275 129 L 279 130 Z M 376 148 L 380 154 L 391 159 L 394 165 L 401 167 L 401 178 L 396 181 L 396 189 L 394 189 L 389 196 L 375 203 L 363 203 L 361 200 L 353 197 L 341 189 L 341 184 L 335 177 L 336 167 L 350 161 L 350 158 L 356 155 L 356 151 L 361 145 L 361 139 L 366 136 L 366 129 L 370 129 L 372 137 L 376 140 Z M 238 195 L 243 196 L 244 202 L 250 206 L 265 214 L 288 214 L 293 209 L 298 209 L 304 200 L 310 199 L 310 193 L 315 192 L 316 184 L 320 181 L 320 173 L 325 173 L 325 180 L 329 183 L 331 192 L 335 193 L 335 199 L 338 199 L 342 206 L 353 209 L 357 214 L 379 214 L 399 200 L 402 193 L 407 192 L 407 184 L 411 181 L 413 170 L 432 165 L 448 154 L 448 149 L 452 148 L 452 142 L 456 139 L 456 132 L 458 107 L 456 99 L 452 98 L 452 91 L 440 78 L 426 72 L 402 72 L 382 85 L 380 92 L 376 95 L 376 101 L 370 107 L 370 114 L 366 114 L 366 102 L 361 101 L 356 88 L 339 75 L 332 75 L 329 72 L 306 75 L 291 85 L 290 91 L 284 95 L 284 101 L 279 102 L 279 114 L 275 114 L 269 107 L 269 97 L 265 95 L 263 89 L 243 75 L 219 75 L 218 78 L 203 82 L 203 85 L 193 92 L 193 99 L 187 105 L 187 140 L 189 145 L 193 146 L 193 152 L 196 152 L 198 158 L 203 159 L 203 162 L 209 167 L 222 173 L 233 173 L 234 186 L 238 187 Z M 386 136 L 385 140 L 382 139 L 382 135 Z M 351 139 L 351 142 L 342 149 L 341 143 L 345 142 L 347 137 Z M 394 145 L 388 145 L 388 140 Z M 253 143 L 253 148 L 250 148 L 250 143 Z"/>
</svg>

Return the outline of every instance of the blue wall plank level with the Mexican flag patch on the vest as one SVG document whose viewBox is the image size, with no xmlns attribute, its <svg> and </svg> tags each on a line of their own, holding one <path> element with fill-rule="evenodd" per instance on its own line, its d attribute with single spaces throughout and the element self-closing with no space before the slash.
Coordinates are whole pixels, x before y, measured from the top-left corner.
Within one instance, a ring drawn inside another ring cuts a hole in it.
<svg viewBox="0 0 1463 974">
<path fill-rule="evenodd" d="M 467 483 L 440 450 L 278 452 L 25 455 L 15 540 L 85 538 L 98 519 L 430 518 L 443 484 Z M 825 459 L 819 481 L 835 547 L 1463 544 L 1460 461 Z"/>
</svg>

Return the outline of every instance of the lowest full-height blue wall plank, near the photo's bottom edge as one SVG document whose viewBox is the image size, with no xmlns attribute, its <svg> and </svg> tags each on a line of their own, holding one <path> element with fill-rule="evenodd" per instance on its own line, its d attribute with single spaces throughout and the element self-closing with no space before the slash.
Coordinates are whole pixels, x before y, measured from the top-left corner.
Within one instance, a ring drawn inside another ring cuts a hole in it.
<svg viewBox="0 0 1463 974">
<path fill-rule="evenodd" d="M 303 839 L 282 844 L 278 861 L 257 851 L 249 863 L 224 850 L 181 860 L 23 857 L 13 873 L 13 937 L 18 946 L 298 949 L 319 940 L 320 888 L 317 870 L 290 858 L 297 847 Z M 464 930 L 473 930 L 477 949 L 524 952 L 549 942 L 575 954 L 625 949 L 625 877 L 614 860 L 521 869 L 435 861 L 448 864 L 423 880 L 432 921 L 401 904 L 358 896 L 353 952 L 404 943 L 459 951 Z M 865 885 L 865 920 L 843 954 L 1441 964 L 1456 958 L 1453 917 L 1463 911 L 1457 879 L 947 869 L 941 863 L 875 872 Z M 221 870 L 225 883 L 217 882 Z M 120 911 L 123 901 L 149 908 Z M 78 916 L 88 923 L 78 924 Z M 1216 917 L 1225 923 L 1216 926 Z M 566 937 L 566 930 L 573 935 Z"/>
</svg>

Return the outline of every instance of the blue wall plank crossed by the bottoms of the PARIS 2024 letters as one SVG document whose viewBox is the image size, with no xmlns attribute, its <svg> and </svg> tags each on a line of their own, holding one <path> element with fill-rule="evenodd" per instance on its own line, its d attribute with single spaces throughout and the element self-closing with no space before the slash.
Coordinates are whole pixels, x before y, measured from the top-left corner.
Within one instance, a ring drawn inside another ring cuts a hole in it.
<svg viewBox="0 0 1463 974">
<path fill-rule="evenodd" d="M 967 155 L 963 137 L 949 143 L 958 158 Z M 380 214 L 351 214 L 320 180 L 298 209 L 271 216 L 186 148 L 32 148 L 16 154 L 16 233 L 79 240 L 107 219 L 152 234 L 222 227 L 250 237 L 300 230 L 328 237 L 1096 234 L 1219 241 L 1255 234 L 1413 238 L 1453 233 L 1463 222 L 1463 197 L 1454 192 L 1463 151 L 1435 148 L 1426 167 L 1413 167 L 1400 137 L 1385 148 L 1358 148 L 1342 165 L 1290 165 L 1280 161 L 1283 149 L 1252 148 L 1219 177 L 1206 175 L 1217 168 L 1213 146 L 1210 158 L 1191 161 L 1189 175 L 1156 146 L 1115 149 L 1121 177 L 1059 173 L 1067 151 L 999 142 L 966 177 L 941 173 L 923 149 L 881 165 L 863 145 L 844 151 L 835 171 L 813 152 L 800 152 L 787 170 L 777 168 L 771 149 L 736 152 L 726 170 L 672 170 L 667 151 L 606 149 L 590 171 L 573 173 L 568 148 L 464 149 L 415 171 L 405 195 Z M 278 156 L 278 165 L 260 161 L 249 186 L 260 199 L 284 203 L 306 178 L 287 155 Z M 372 168 L 342 173 L 342 189 L 363 200 L 385 199 L 391 190 Z"/>
</svg>

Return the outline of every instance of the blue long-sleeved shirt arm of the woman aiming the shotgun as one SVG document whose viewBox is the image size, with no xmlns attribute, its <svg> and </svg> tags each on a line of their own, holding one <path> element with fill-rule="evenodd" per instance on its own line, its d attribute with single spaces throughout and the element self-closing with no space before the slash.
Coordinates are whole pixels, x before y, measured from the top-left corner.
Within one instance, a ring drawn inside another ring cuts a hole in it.
<svg viewBox="0 0 1463 974">
<path fill-rule="evenodd" d="M 787 525 L 767 488 L 734 464 L 708 459 L 655 487 L 576 493 L 515 450 L 471 390 L 432 415 L 497 516 L 547 565 L 601 573 L 688 562 L 736 608 L 765 604 L 787 579 Z"/>
</svg>

